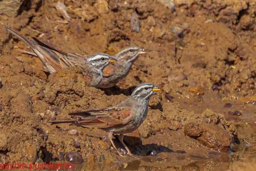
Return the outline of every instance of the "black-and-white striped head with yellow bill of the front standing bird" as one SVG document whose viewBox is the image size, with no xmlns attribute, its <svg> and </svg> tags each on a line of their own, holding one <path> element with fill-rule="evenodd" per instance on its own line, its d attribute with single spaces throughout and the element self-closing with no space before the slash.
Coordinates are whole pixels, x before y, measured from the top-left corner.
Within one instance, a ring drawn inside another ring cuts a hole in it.
<svg viewBox="0 0 256 171">
<path fill-rule="evenodd" d="M 132 98 L 135 98 L 139 101 L 149 100 L 155 92 L 160 91 L 161 89 L 154 84 L 144 83 L 135 88 L 131 94 Z"/>
</svg>

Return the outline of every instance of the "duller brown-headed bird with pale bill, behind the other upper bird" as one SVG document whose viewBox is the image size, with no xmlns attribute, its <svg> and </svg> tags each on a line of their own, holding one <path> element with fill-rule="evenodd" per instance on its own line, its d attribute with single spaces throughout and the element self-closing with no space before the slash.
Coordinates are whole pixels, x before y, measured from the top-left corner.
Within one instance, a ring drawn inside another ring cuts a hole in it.
<svg viewBox="0 0 256 171">
<path fill-rule="evenodd" d="M 137 46 L 127 47 L 119 51 L 113 56 L 113 58 L 118 61 L 107 65 L 103 69 L 103 79 L 97 87 L 110 88 L 115 86 L 129 74 L 134 61 L 137 60 L 141 54 L 145 53 L 145 49 Z"/>
</svg>

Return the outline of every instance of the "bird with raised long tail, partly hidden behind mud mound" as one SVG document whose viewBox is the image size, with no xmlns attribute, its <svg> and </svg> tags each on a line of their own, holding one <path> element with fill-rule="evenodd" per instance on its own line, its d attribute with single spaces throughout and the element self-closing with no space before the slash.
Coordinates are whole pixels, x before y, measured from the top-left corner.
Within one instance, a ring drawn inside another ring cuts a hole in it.
<svg viewBox="0 0 256 171">
<path fill-rule="evenodd" d="M 75 54 L 64 53 L 58 49 L 44 44 L 35 37 L 33 37 L 34 40 L 28 40 L 13 30 L 5 26 L 4 28 L 15 36 L 19 37 L 23 42 L 30 46 L 33 52 L 24 52 L 40 58 L 49 73 L 74 66 L 82 70 L 86 82 L 92 87 L 96 87 L 101 82 L 103 78 L 103 69 L 109 63 L 117 61 L 115 58 L 110 57 L 105 53 L 95 53 L 91 56 L 88 56 L 87 58 L 77 56 Z"/>
</svg>

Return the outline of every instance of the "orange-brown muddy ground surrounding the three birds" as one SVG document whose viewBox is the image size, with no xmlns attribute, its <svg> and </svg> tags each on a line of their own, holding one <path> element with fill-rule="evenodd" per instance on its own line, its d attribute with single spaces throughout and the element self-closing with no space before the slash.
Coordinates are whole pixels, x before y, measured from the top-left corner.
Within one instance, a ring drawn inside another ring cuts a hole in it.
<svg viewBox="0 0 256 171">
<path fill-rule="evenodd" d="M 97 89 L 76 68 L 48 76 L 38 58 L 20 53 L 27 45 L 0 27 L 0 163 L 60 163 L 77 151 L 78 170 L 255 169 L 254 0 L 68 0 L 70 21 L 57 0 L 4 2 L 2 25 L 64 52 L 113 55 L 139 46 L 147 54 L 117 86 Z M 133 13 L 139 27 L 131 27 Z M 47 123 L 116 105 L 143 82 L 163 92 L 124 138 L 133 157 L 118 156 L 101 130 Z"/>
</svg>

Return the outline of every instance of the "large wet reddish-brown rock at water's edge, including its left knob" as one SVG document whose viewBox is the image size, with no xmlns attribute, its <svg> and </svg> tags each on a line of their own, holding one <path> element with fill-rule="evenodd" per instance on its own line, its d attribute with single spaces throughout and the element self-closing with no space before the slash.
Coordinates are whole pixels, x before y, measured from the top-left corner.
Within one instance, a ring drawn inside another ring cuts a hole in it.
<svg viewBox="0 0 256 171">
<path fill-rule="evenodd" d="M 184 127 L 184 134 L 214 150 L 228 151 L 230 148 L 231 135 L 218 125 L 188 123 Z"/>
</svg>

